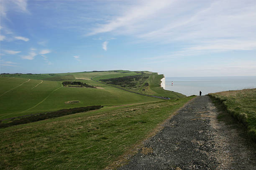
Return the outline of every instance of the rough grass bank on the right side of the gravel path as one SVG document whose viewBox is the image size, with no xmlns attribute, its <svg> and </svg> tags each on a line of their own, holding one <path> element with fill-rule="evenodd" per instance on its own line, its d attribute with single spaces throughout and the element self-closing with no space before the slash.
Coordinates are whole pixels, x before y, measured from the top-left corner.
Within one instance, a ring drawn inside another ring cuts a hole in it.
<svg viewBox="0 0 256 170">
<path fill-rule="evenodd" d="M 256 141 L 256 89 L 217 92 L 209 95 L 242 122 L 247 127 L 249 137 Z"/>
</svg>

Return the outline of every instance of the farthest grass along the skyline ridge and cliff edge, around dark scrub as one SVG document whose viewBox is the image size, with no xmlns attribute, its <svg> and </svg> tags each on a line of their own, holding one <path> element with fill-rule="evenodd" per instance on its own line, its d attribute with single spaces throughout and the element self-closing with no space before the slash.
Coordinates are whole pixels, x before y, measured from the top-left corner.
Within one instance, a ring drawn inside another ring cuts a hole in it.
<svg viewBox="0 0 256 170">
<path fill-rule="evenodd" d="M 158 75 L 156 72 L 148 72 L 143 71 L 149 76 L 148 80 L 145 82 L 149 83 L 148 87 L 134 87 L 128 88 L 128 90 L 133 90 L 136 92 L 148 94 L 148 95 L 157 95 L 157 96 L 164 96 L 170 98 L 177 98 L 177 97 L 185 97 L 178 92 L 172 92 L 169 90 L 164 90 L 160 87 L 161 79 L 163 75 Z M 128 70 L 112 70 L 112 71 L 104 71 L 104 72 L 69 72 L 69 73 L 57 73 L 57 74 L 34 74 L 34 75 L 4 75 L 9 77 L 23 77 L 23 78 L 30 78 L 30 79 L 37 79 L 37 80 L 51 80 L 51 81 L 65 81 L 65 80 L 74 80 L 74 79 L 84 79 L 86 83 L 90 85 L 97 85 L 102 86 L 102 84 L 93 82 L 91 78 L 94 80 L 101 80 L 101 79 L 108 79 L 108 78 L 116 78 L 116 77 L 125 77 L 125 76 L 132 76 L 132 75 L 141 75 L 140 71 L 128 71 Z M 3 75 L 2 75 L 3 76 Z M 80 81 L 80 80 L 79 80 Z M 145 91 L 143 91 L 145 88 Z"/>
</svg>

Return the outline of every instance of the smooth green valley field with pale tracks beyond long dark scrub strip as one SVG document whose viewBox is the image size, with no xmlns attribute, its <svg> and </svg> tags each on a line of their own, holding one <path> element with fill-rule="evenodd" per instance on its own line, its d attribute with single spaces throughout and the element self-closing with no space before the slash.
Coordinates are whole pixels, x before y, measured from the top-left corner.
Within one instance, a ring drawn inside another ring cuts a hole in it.
<svg viewBox="0 0 256 170">
<path fill-rule="evenodd" d="M 124 105 L 159 101 L 159 99 L 153 97 L 133 94 L 110 86 L 102 87 L 103 89 L 96 89 L 86 87 L 63 87 L 59 81 L 43 80 L 42 82 L 41 80 L 29 80 L 16 77 L 4 80 L 5 81 L 0 82 L 0 120 L 73 107 Z M 25 83 L 22 84 L 23 82 Z M 40 82 L 42 83 L 39 84 Z M 101 83 L 98 83 L 98 85 L 99 84 L 102 85 Z M 65 103 L 72 100 L 79 100 L 80 102 L 74 104 Z"/>
</svg>

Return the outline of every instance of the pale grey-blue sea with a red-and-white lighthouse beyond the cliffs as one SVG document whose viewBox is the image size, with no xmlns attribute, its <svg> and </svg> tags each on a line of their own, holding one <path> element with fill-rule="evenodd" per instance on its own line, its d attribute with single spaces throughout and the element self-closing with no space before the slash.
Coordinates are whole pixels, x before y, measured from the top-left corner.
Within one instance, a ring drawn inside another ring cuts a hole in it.
<svg viewBox="0 0 256 170">
<path fill-rule="evenodd" d="M 173 85 L 172 85 L 173 82 Z M 186 96 L 202 95 L 228 90 L 256 88 L 256 76 L 232 77 L 165 77 L 165 90 Z"/>
</svg>

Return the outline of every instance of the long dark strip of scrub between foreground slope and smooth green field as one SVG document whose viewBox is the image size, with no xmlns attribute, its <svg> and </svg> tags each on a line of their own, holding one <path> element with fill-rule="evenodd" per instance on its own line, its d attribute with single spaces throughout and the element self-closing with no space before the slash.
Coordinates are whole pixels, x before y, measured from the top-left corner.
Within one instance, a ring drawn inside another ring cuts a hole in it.
<svg viewBox="0 0 256 170">
<path fill-rule="evenodd" d="M 14 119 L 8 123 L 0 123 L 0 128 L 6 128 L 6 127 L 13 126 L 13 125 L 20 125 L 20 124 L 25 124 L 25 123 L 29 123 L 29 122 L 36 122 L 39 120 L 45 120 L 45 119 L 50 119 L 50 118 L 54 118 L 54 117 L 71 115 L 71 114 L 79 113 L 79 112 L 87 112 L 90 110 L 100 109 L 101 107 L 103 107 L 103 106 L 95 105 L 95 106 L 87 106 L 87 107 L 75 107 L 75 108 L 70 108 L 70 109 L 61 109 L 61 110 L 57 110 L 54 112 L 38 113 L 36 115 L 31 115 L 28 117 L 21 117 L 20 119 Z"/>
</svg>

